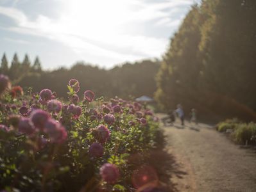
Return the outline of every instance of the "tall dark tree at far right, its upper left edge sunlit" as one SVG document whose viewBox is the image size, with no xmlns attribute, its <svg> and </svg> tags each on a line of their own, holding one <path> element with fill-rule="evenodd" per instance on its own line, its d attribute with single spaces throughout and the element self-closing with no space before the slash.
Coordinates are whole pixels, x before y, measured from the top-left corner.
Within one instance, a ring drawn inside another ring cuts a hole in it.
<svg viewBox="0 0 256 192">
<path fill-rule="evenodd" d="M 256 1 L 205 1 L 202 11 L 203 89 L 256 110 Z"/>
</svg>

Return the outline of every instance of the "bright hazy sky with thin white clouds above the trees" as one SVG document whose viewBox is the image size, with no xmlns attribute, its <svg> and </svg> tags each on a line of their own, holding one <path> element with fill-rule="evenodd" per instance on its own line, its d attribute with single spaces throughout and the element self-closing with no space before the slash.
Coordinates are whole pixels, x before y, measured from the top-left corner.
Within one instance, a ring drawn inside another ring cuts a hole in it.
<svg viewBox="0 0 256 192">
<path fill-rule="evenodd" d="M 0 0 L 0 56 L 44 69 L 161 58 L 199 0 Z"/>
</svg>

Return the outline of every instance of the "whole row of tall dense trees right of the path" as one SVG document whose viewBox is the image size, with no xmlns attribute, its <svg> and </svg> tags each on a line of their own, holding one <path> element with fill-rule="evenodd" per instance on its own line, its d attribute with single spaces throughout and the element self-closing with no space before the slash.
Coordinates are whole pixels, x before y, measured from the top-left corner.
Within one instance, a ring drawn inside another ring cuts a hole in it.
<svg viewBox="0 0 256 192">
<path fill-rule="evenodd" d="M 157 74 L 156 99 L 201 116 L 255 120 L 256 1 L 203 0 L 171 38 Z"/>
</svg>

